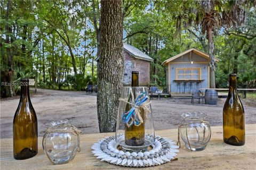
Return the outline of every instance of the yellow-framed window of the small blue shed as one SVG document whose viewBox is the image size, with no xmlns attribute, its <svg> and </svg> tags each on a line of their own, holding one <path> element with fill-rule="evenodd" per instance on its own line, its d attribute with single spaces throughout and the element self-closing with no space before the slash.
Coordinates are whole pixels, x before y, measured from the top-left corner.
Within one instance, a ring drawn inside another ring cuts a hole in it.
<svg viewBox="0 0 256 170">
<path fill-rule="evenodd" d="M 177 68 L 177 80 L 199 80 L 201 78 L 201 68 Z"/>
</svg>

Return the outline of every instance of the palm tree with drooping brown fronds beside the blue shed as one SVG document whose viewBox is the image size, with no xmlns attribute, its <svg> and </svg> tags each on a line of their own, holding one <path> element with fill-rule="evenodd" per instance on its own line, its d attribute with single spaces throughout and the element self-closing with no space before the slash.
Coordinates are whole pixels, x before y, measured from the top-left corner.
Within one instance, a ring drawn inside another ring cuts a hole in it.
<svg viewBox="0 0 256 170">
<path fill-rule="evenodd" d="M 215 61 L 213 32 L 220 28 L 230 28 L 246 21 L 245 7 L 249 8 L 256 1 L 221 1 L 203 0 L 196 2 L 196 24 L 201 25 L 202 32 L 207 35 L 210 55 L 210 88 L 215 88 Z"/>
</svg>

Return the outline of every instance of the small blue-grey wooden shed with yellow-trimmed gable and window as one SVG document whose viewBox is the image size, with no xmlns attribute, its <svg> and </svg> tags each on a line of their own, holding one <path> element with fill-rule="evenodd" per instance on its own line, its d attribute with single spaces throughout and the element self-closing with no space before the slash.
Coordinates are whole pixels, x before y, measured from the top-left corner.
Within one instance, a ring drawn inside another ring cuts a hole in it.
<svg viewBox="0 0 256 170">
<path fill-rule="evenodd" d="M 165 60 L 162 65 L 166 67 L 167 91 L 187 93 L 194 88 L 209 88 L 209 60 L 209 54 L 196 48 L 188 49 Z M 216 57 L 214 60 L 220 61 Z"/>
</svg>

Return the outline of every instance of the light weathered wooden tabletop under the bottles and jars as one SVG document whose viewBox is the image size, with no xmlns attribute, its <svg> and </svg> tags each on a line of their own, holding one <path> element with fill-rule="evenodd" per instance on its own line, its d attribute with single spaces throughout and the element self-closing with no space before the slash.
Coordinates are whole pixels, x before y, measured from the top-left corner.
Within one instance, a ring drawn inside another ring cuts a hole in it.
<svg viewBox="0 0 256 170">
<path fill-rule="evenodd" d="M 177 140 L 178 129 L 156 131 L 156 135 Z M 39 138 L 38 154 L 30 159 L 15 160 L 12 155 L 12 139 L 1 139 L 1 169 L 130 169 L 101 162 L 91 153 L 91 146 L 97 140 L 114 135 L 98 133 L 81 135 L 81 152 L 75 158 L 62 165 L 52 165 L 42 148 Z M 222 126 L 212 127 L 212 138 L 203 151 L 192 152 L 184 143 L 178 154 L 178 160 L 140 169 L 256 169 L 256 124 L 246 125 L 246 143 L 237 147 L 222 141 Z M 137 169 L 137 168 L 136 168 Z"/>
</svg>

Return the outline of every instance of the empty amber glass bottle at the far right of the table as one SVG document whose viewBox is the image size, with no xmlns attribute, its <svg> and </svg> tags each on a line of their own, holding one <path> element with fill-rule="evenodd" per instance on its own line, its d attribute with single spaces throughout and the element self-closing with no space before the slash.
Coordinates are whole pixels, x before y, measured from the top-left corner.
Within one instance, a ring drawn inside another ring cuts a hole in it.
<svg viewBox="0 0 256 170">
<path fill-rule="evenodd" d="M 244 107 L 237 93 L 236 74 L 229 74 L 229 92 L 223 107 L 223 140 L 229 145 L 245 143 Z"/>
</svg>

